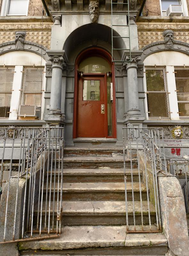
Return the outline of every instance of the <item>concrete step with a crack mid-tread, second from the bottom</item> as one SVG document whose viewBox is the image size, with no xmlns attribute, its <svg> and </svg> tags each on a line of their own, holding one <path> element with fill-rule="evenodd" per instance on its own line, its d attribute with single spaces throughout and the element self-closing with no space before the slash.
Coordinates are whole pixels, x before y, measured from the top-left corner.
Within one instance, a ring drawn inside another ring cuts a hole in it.
<svg viewBox="0 0 189 256">
<path fill-rule="evenodd" d="M 53 205 L 57 209 L 57 201 L 54 204 L 51 201 L 51 216 L 53 215 Z M 151 203 L 149 205 L 151 223 L 154 224 L 156 222 L 155 207 Z M 46 208 L 48 216 L 49 203 L 46 206 L 45 202 L 43 202 L 42 223 L 44 223 Z M 142 224 L 140 201 L 135 201 L 134 212 L 136 224 Z M 142 212 L 143 223 L 149 224 L 147 201 L 142 202 Z M 134 224 L 132 201 L 128 202 L 128 214 L 129 223 L 132 225 Z M 37 205 L 34 209 L 34 215 L 37 216 Z M 62 203 L 62 223 L 63 225 L 125 225 L 125 201 L 64 201 Z"/>
</svg>

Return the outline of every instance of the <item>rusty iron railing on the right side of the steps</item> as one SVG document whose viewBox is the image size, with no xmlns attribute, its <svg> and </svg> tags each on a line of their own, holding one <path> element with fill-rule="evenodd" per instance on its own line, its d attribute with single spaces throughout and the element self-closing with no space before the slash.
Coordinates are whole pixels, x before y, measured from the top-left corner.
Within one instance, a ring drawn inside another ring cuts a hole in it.
<svg viewBox="0 0 189 256">
<path fill-rule="evenodd" d="M 162 230 L 157 180 L 158 172 L 167 174 L 162 136 L 162 128 L 123 128 L 127 233 L 159 232 Z M 128 159 L 130 159 L 131 183 L 126 175 L 126 161 Z M 138 173 L 138 187 L 133 182 L 134 173 L 135 175 Z M 131 197 L 128 196 L 127 189 L 131 190 Z M 139 198 L 137 198 L 136 193 L 138 193 Z M 138 207 L 135 207 L 137 203 L 140 205 L 138 210 L 136 210 Z M 131 215 L 129 205 L 132 205 L 133 220 L 128 218 Z M 136 225 L 136 215 L 140 216 L 141 225 Z"/>
</svg>

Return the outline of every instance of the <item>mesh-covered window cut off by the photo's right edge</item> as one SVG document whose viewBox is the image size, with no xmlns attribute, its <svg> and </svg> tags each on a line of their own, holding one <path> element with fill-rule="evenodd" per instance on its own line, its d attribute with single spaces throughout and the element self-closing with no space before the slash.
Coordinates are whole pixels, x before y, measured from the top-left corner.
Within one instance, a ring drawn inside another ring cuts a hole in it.
<svg viewBox="0 0 189 256">
<path fill-rule="evenodd" d="M 180 119 L 189 118 L 189 67 L 175 67 L 178 114 Z"/>
</svg>

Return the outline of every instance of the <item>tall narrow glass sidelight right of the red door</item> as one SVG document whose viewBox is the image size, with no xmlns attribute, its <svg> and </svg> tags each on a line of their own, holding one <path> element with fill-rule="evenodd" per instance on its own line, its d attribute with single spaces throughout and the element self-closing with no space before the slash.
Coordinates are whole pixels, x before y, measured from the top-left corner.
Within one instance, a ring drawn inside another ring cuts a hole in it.
<svg viewBox="0 0 189 256">
<path fill-rule="evenodd" d="M 108 136 L 112 136 L 111 77 L 107 77 L 107 119 L 108 119 Z"/>
</svg>

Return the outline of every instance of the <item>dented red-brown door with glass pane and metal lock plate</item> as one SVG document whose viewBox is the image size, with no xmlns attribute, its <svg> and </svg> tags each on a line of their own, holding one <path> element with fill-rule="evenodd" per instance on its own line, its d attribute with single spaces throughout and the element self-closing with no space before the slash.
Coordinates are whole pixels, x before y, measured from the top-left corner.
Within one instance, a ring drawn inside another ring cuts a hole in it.
<svg viewBox="0 0 189 256">
<path fill-rule="evenodd" d="M 105 76 L 79 78 L 77 105 L 77 137 L 106 137 Z"/>
</svg>

